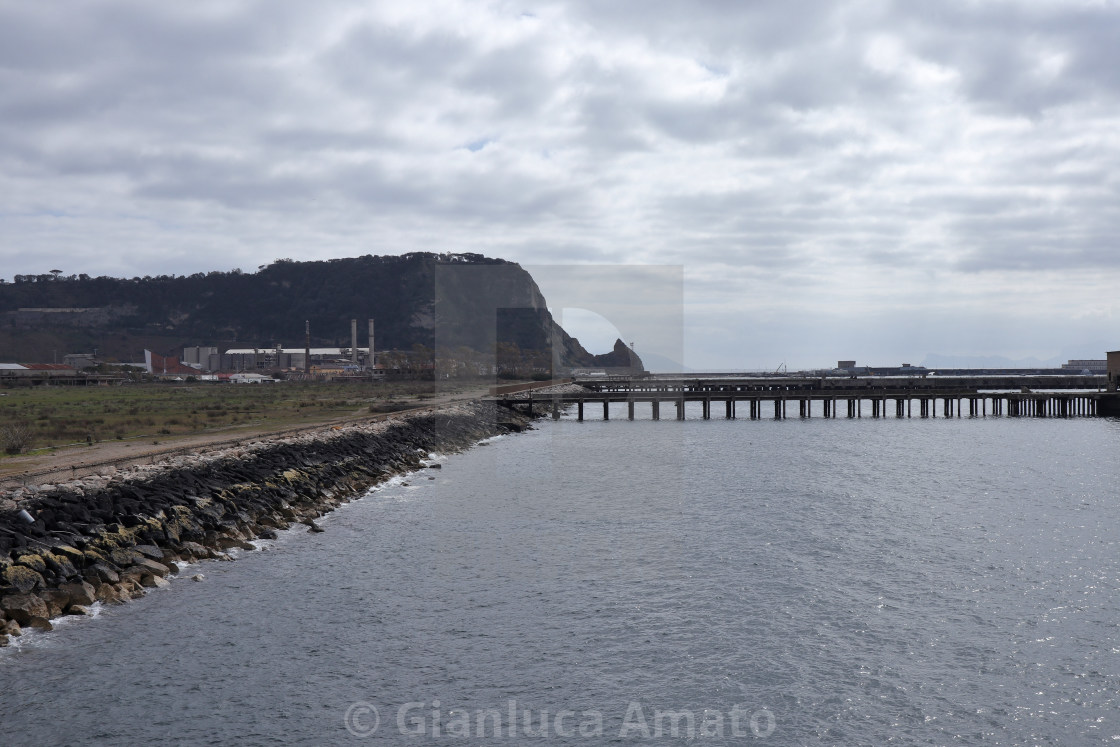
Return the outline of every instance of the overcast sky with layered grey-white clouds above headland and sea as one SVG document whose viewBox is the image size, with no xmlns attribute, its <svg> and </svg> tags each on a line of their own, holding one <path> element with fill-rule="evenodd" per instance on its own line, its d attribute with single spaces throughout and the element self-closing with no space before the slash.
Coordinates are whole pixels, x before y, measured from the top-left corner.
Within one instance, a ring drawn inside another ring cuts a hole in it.
<svg viewBox="0 0 1120 747">
<path fill-rule="evenodd" d="M 478 252 L 675 273 L 676 352 L 564 326 L 697 370 L 1099 358 L 1117 39 L 1117 0 L 0 0 L 0 277 Z"/>
</svg>

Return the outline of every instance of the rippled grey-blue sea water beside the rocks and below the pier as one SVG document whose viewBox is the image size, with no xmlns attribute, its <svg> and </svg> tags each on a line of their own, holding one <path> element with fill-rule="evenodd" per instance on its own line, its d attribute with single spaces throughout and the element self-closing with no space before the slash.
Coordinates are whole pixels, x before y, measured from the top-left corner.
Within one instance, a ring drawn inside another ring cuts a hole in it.
<svg viewBox="0 0 1120 747">
<path fill-rule="evenodd" d="M 25 636 L 2 739 L 1120 739 L 1120 424 L 698 414 L 545 422 Z"/>
</svg>

